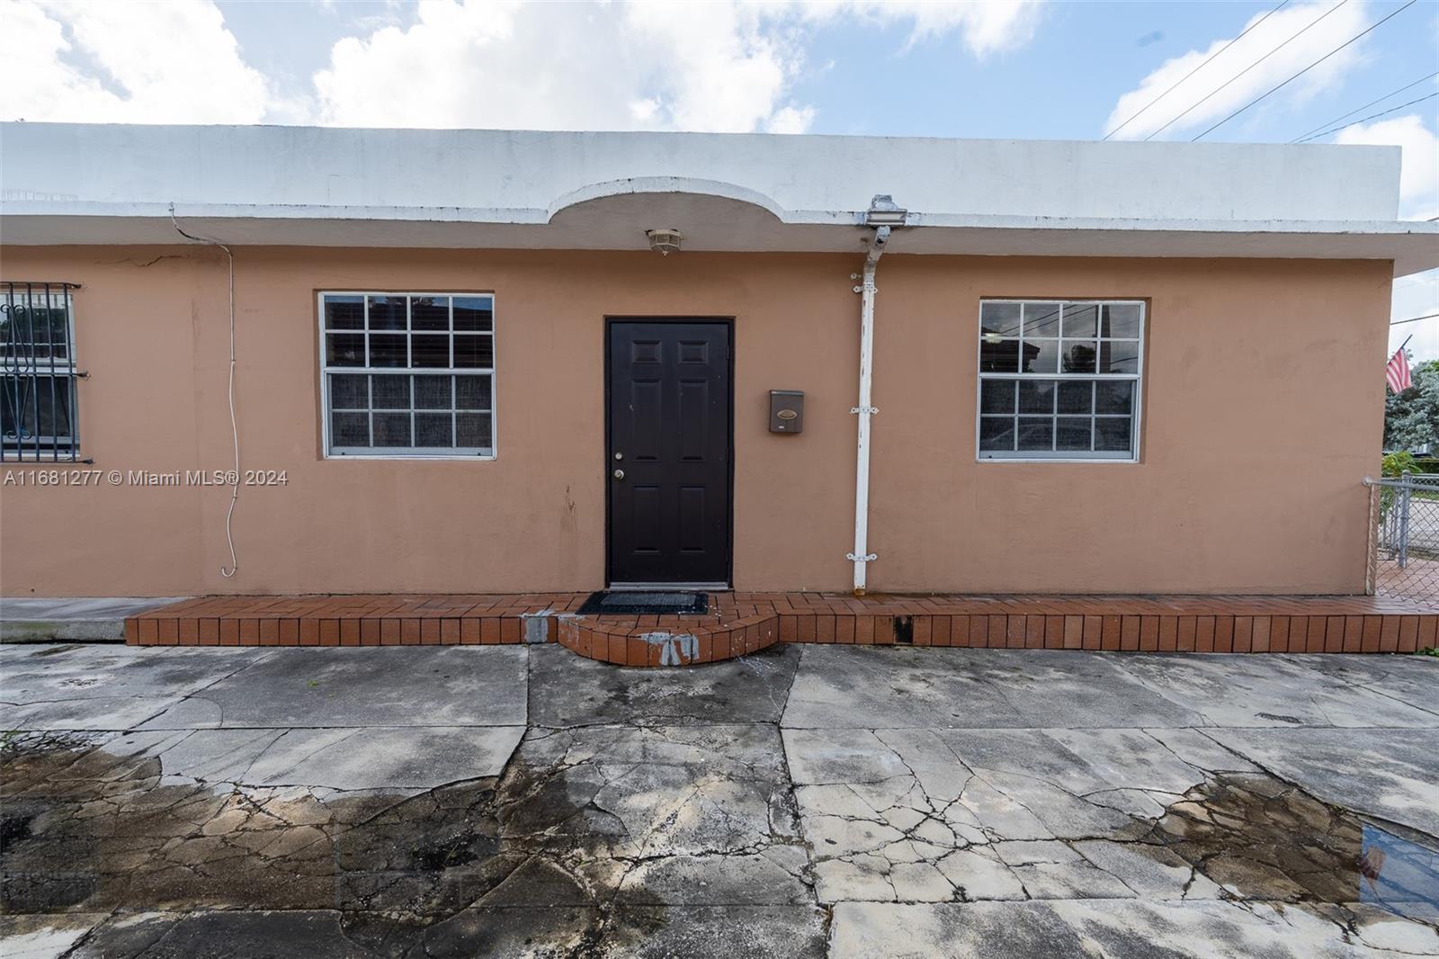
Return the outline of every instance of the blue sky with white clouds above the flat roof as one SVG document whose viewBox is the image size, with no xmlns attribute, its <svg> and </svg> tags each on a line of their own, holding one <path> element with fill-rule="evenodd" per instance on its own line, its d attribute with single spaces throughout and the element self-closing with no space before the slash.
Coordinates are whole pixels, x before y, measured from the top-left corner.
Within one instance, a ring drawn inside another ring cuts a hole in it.
<svg viewBox="0 0 1439 959">
<path fill-rule="evenodd" d="M 1439 3 L 1406 3 L 0 0 L 0 117 L 1312 137 L 1403 147 L 1400 216 L 1430 219 Z M 1429 312 L 1439 274 L 1396 282 L 1393 318 Z M 1393 333 L 1439 357 L 1439 318 Z"/>
</svg>

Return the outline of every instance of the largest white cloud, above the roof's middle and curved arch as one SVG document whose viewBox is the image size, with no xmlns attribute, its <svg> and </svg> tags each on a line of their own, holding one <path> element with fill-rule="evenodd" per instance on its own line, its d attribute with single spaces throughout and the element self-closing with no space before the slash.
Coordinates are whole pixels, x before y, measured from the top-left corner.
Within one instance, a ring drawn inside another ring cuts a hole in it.
<svg viewBox="0 0 1439 959">
<path fill-rule="evenodd" d="M 807 30 L 842 16 L 957 32 L 976 55 L 1026 42 L 1038 3 L 425 0 L 416 22 L 335 45 L 318 115 L 342 125 L 803 132 L 786 99 Z"/>
</svg>

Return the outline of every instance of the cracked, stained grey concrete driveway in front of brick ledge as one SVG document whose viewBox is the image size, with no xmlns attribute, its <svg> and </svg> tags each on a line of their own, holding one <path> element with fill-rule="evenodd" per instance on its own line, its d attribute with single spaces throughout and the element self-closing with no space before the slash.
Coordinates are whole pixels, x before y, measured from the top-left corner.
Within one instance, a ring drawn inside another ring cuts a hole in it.
<svg viewBox="0 0 1439 959">
<path fill-rule="evenodd" d="M 6 956 L 1439 955 L 1439 662 L 0 647 Z"/>
</svg>

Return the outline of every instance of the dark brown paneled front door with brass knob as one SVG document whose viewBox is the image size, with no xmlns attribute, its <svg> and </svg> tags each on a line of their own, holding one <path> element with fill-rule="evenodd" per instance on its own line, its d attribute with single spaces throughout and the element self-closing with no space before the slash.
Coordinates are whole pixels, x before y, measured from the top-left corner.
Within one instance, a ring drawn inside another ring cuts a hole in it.
<svg viewBox="0 0 1439 959">
<path fill-rule="evenodd" d="M 612 583 L 730 580 L 730 324 L 613 320 Z"/>
</svg>

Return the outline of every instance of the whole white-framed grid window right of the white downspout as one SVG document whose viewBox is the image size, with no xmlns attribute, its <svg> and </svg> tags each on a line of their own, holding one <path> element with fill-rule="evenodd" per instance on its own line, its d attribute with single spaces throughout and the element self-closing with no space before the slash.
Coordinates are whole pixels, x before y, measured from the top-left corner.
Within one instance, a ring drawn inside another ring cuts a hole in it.
<svg viewBox="0 0 1439 959">
<path fill-rule="evenodd" d="M 980 459 L 1138 459 L 1144 302 L 980 304 Z"/>
</svg>

